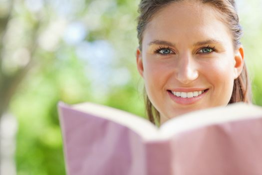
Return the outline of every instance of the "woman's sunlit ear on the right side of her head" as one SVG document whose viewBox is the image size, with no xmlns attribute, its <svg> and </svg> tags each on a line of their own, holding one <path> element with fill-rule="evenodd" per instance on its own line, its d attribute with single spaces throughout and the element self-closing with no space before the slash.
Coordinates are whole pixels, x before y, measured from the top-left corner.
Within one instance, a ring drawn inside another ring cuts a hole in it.
<svg viewBox="0 0 262 175">
<path fill-rule="evenodd" d="M 237 79 L 241 74 L 244 66 L 244 48 L 241 45 L 235 53 L 234 78 Z"/>
</svg>

